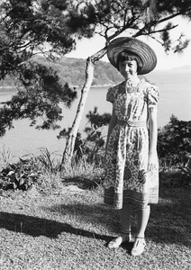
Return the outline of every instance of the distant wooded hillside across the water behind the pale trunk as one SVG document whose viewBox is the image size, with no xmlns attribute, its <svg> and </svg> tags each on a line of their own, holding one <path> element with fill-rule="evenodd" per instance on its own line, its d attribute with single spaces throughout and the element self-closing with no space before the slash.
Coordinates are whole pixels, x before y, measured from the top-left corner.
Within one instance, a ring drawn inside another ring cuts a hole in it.
<svg viewBox="0 0 191 270">
<path fill-rule="evenodd" d="M 59 62 L 51 62 L 38 57 L 35 60 L 57 70 L 62 84 L 84 85 L 86 59 L 63 57 Z M 104 61 L 98 61 L 96 64 L 93 85 L 114 85 L 121 82 L 122 79 L 120 73 L 111 64 Z M 13 82 L 6 79 L 4 82 L 0 82 L 0 85 L 13 85 Z"/>
</svg>

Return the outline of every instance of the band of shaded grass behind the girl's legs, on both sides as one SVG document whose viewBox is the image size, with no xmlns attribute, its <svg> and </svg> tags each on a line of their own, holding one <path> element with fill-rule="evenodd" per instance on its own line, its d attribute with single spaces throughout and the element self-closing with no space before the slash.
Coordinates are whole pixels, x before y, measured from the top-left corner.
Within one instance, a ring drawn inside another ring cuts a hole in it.
<svg viewBox="0 0 191 270">
<path fill-rule="evenodd" d="M 150 221 L 146 237 L 158 243 L 177 244 L 191 247 L 191 189 L 177 188 L 160 191 L 159 204 L 151 206 Z M 105 228 L 117 233 L 119 218 L 112 208 L 105 204 L 59 204 L 44 211 L 59 211 L 82 222 L 94 223 L 94 226 L 104 225 Z M 136 211 L 132 211 L 134 213 Z M 135 217 L 136 218 L 136 217 Z M 135 231 L 135 220 L 132 220 L 132 231 Z"/>
</svg>

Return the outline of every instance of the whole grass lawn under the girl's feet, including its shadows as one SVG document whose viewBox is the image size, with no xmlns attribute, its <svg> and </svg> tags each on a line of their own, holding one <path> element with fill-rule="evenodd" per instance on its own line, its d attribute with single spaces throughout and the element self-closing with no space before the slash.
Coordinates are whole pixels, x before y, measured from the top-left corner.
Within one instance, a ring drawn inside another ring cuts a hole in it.
<svg viewBox="0 0 191 270">
<path fill-rule="evenodd" d="M 147 246 L 132 257 L 132 243 L 106 247 L 120 230 L 118 213 L 90 190 L 64 182 L 49 194 L 2 192 L 0 269 L 191 270 L 191 186 L 160 188 L 146 231 Z M 136 212 L 132 213 L 135 233 Z"/>
</svg>

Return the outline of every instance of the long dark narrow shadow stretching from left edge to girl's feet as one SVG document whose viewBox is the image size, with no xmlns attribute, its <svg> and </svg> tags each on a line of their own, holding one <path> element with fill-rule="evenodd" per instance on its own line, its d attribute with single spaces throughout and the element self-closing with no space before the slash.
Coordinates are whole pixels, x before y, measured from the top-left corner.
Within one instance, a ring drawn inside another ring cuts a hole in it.
<svg viewBox="0 0 191 270">
<path fill-rule="evenodd" d="M 0 228 L 20 232 L 32 237 L 45 236 L 47 238 L 57 238 L 59 234 L 67 232 L 86 238 L 105 240 L 106 242 L 111 240 L 111 237 L 96 234 L 85 229 L 77 229 L 67 223 L 3 211 L 0 212 Z"/>
</svg>

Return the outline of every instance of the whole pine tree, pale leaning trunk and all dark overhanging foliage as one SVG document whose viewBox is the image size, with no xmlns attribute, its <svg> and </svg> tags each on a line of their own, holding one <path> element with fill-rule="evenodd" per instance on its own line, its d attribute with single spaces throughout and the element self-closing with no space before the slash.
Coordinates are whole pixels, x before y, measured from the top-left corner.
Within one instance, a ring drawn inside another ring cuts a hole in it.
<svg viewBox="0 0 191 270">
<path fill-rule="evenodd" d="M 61 85 L 51 67 L 38 63 L 35 55 L 55 60 L 75 49 L 76 41 L 96 33 L 105 38 L 105 48 L 86 60 L 86 80 L 77 114 L 68 134 L 62 166 L 70 163 L 77 130 L 94 78 L 95 63 L 111 40 L 124 34 L 148 36 L 166 51 L 182 52 L 189 40 L 183 33 L 174 42 L 172 19 L 191 18 L 190 0 L 2 0 L 0 2 L 0 79 L 14 78 L 18 93 L 0 109 L 0 135 L 14 119 L 29 118 L 37 128 L 57 128 L 59 103 L 70 105 L 76 91 Z M 43 117 L 38 125 L 37 119 Z"/>
</svg>

